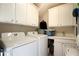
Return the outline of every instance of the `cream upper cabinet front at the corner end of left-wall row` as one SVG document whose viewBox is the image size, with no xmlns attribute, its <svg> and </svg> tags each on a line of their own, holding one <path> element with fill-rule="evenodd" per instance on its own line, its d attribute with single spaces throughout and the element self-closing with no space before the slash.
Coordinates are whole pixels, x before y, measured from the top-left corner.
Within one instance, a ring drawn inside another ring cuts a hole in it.
<svg viewBox="0 0 79 59">
<path fill-rule="evenodd" d="M 38 9 L 33 4 L 27 4 L 27 24 L 38 26 Z"/>
</svg>

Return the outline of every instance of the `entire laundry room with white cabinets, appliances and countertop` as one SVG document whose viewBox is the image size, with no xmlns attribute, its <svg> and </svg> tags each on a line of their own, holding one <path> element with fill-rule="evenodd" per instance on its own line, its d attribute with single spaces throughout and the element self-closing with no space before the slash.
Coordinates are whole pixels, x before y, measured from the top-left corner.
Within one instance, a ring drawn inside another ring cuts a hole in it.
<svg viewBox="0 0 79 59">
<path fill-rule="evenodd" d="M 79 3 L 0 3 L 0 56 L 79 56 Z"/>
</svg>

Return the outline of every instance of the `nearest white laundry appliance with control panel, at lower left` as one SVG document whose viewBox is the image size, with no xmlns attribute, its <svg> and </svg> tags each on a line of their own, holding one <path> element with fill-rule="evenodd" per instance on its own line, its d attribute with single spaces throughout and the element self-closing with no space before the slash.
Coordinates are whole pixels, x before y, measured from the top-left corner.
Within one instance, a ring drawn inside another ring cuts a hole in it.
<svg viewBox="0 0 79 59">
<path fill-rule="evenodd" d="M 37 38 L 23 32 L 2 33 L 6 45 L 5 56 L 37 56 Z"/>
</svg>

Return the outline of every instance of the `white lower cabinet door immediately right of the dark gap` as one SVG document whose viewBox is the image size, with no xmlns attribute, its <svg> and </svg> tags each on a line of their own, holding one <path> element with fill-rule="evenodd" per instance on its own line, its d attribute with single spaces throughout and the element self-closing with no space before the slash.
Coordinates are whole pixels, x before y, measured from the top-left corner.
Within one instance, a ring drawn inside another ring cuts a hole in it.
<svg viewBox="0 0 79 59">
<path fill-rule="evenodd" d="M 54 42 L 54 56 L 63 56 L 63 46 L 60 42 Z"/>
</svg>

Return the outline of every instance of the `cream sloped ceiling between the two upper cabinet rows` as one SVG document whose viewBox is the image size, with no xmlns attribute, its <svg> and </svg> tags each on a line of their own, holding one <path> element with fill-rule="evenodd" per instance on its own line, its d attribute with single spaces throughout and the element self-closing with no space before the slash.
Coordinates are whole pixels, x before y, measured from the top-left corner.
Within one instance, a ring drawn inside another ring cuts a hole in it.
<svg viewBox="0 0 79 59">
<path fill-rule="evenodd" d="M 34 3 L 39 9 L 39 16 L 42 17 L 49 8 L 61 5 L 63 3 Z"/>
</svg>

